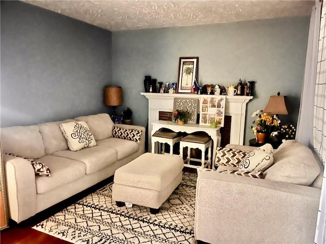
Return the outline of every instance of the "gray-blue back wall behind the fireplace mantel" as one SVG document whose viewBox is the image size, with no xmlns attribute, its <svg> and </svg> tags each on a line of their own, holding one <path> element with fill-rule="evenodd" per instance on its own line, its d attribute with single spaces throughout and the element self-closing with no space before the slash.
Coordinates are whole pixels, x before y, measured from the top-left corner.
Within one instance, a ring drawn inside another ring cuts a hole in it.
<svg viewBox="0 0 326 244">
<path fill-rule="evenodd" d="M 113 82 L 123 87 L 124 107 L 134 124 L 146 126 L 145 75 L 176 82 L 179 57 L 199 56 L 199 85 L 228 86 L 254 80 L 255 98 L 248 103 L 245 144 L 254 138 L 251 114 L 264 109 L 269 96 L 287 95 L 289 116 L 296 124 L 308 42 L 309 17 L 171 27 L 113 33 Z"/>
</svg>

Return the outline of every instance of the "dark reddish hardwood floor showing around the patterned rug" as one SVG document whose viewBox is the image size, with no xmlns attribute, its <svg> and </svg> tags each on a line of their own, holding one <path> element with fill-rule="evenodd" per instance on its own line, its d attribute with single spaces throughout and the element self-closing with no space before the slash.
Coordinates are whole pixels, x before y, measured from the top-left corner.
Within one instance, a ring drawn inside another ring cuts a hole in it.
<svg viewBox="0 0 326 244">
<path fill-rule="evenodd" d="M 195 173 L 196 169 L 184 168 L 184 171 Z M 32 217 L 28 221 L 24 221 L 22 223 L 11 222 L 10 227 L 2 230 L 0 233 L 0 243 L 1 244 L 67 244 L 70 243 L 65 240 L 61 240 L 57 237 L 53 237 L 51 235 L 45 234 L 43 232 L 32 229 L 34 225 L 40 223 L 46 218 L 52 216 L 56 212 L 66 208 L 67 206 L 73 204 L 74 202 L 82 199 L 83 197 L 89 195 L 90 193 L 100 189 L 106 184 L 113 181 L 113 176 L 107 178 L 95 186 L 76 194 L 73 197 L 68 198 L 67 200 L 52 206 L 36 216 Z M 204 242 L 199 242 L 204 243 Z"/>
</svg>

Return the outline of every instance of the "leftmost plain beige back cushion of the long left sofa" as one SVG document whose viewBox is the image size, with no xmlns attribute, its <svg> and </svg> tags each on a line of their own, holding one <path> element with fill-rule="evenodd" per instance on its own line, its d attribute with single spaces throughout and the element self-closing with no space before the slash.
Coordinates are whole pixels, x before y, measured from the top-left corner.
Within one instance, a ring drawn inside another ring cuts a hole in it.
<svg viewBox="0 0 326 244">
<path fill-rule="evenodd" d="M 37 126 L 1 128 L 1 145 L 4 153 L 31 159 L 45 156 L 42 136 Z"/>
</svg>

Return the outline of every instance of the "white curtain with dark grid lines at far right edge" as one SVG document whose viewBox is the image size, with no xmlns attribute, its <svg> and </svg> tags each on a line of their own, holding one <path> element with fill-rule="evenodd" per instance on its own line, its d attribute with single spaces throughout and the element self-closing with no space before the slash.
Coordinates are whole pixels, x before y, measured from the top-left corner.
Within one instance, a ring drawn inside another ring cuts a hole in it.
<svg viewBox="0 0 326 244">
<path fill-rule="evenodd" d="M 324 165 L 319 202 L 315 243 L 326 243 L 326 1 L 323 1 L 320 17 L 320 33 L 317 58 L 317 75 L 314 102 L 313 145 Z"/>
</svg>

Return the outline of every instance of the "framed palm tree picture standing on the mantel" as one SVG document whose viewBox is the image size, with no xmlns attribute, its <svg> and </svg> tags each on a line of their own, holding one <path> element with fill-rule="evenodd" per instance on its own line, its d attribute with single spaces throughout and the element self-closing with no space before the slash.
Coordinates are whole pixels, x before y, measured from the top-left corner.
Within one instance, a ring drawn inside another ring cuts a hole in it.
<svg viewBox="0 0 326 244">
<path fill-rule="evenodd" d="M 177 93 L 191 93 L 198 73 L 198 57 L 179 58 L 179 80 Z"/>
</svg>

